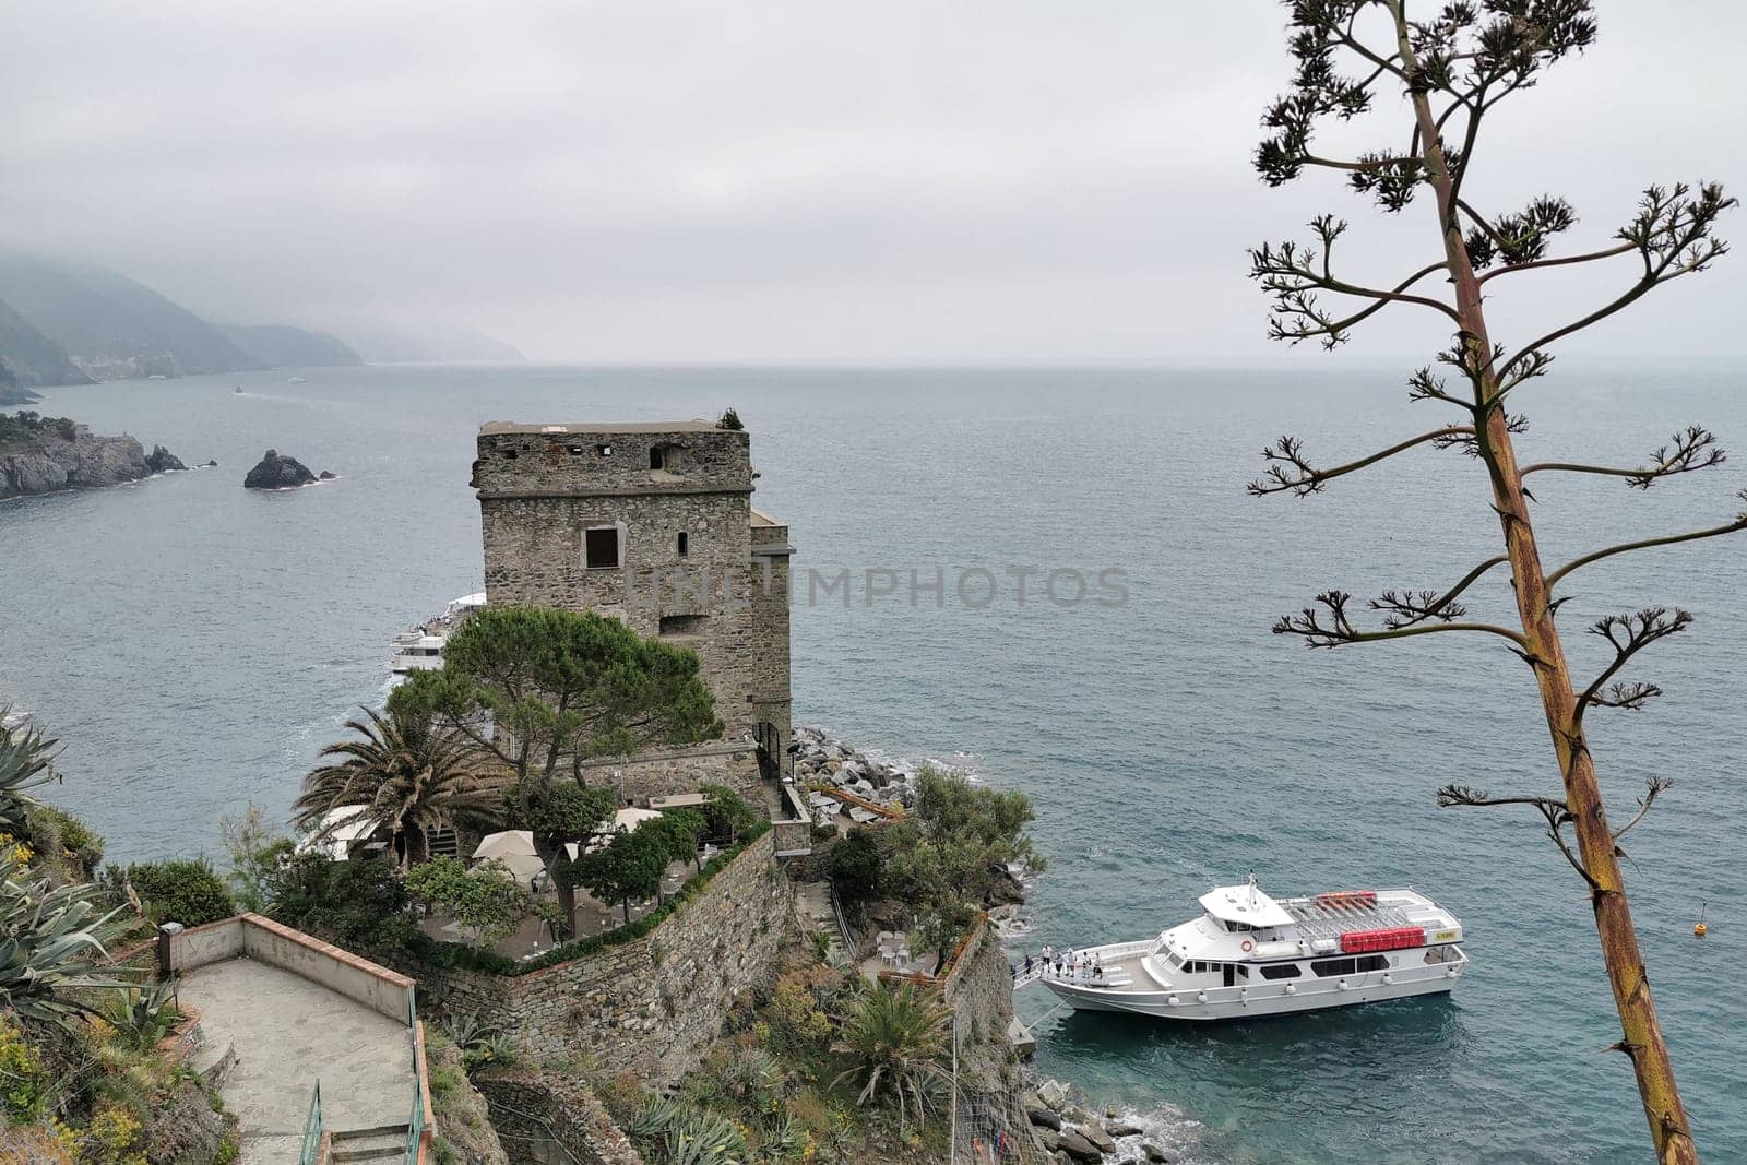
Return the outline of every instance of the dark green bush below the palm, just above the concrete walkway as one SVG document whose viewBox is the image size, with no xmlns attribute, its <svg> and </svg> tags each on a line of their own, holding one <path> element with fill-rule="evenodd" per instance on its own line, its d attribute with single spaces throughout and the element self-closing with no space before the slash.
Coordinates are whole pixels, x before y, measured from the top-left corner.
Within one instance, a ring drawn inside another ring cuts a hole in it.
<svg viewBox="0 0 1747 1165">
<path fill-rule="evenodd" d="M 412 924 L 405 886 L 388 861 L 299 854 L 273 873 L 269 894 L 274 919 L 342 941 L 405 947 L 425 938 Z"/>
</svg>

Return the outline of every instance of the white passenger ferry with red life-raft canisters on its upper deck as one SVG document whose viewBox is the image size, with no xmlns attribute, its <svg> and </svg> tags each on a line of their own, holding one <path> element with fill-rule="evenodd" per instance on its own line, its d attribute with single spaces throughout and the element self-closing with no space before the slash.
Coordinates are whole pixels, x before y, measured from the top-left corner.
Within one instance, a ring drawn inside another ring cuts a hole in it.
<svg viewBox="0 0 1747 1165">
<path fill-rule="evenodd" d="M 1032 975 L 1088 1011 L 1233 1020 L 1448 992 L 1467 968 L 1462 924 L 1413 889 L 1275 900 L 1251 875 L 1200 905 L 1158 938 L 1055 955 Z"/>
</svg>

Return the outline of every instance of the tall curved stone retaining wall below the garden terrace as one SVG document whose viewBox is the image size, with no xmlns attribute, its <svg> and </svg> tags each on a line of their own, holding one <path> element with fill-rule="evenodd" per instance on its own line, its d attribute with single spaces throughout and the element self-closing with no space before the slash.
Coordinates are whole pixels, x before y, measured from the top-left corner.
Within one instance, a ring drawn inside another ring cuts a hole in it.
<svg viewBox="0 0 1747 1165">
<path fill-rule="evenodd" d="M 604 1074 L 678 1079 L 762 980 L 791 917 L 788 880 L 765 833 L 653 933 L 554 968 L 507 976 L 398 955 L 426 1006 L 477 1015 L 538 1060 L 592 1057 Z"/>
</svg>

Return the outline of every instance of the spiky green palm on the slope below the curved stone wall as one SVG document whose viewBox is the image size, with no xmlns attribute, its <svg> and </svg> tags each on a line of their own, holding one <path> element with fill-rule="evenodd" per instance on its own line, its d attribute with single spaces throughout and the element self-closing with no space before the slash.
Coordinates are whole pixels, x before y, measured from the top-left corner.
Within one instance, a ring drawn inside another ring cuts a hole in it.
<svg viewBox="0 0 1747 1165">
<path fill-rule="evenodd" d="M 849 1067 L 837 1083 L 861 1079 L 856 1104 L 891 1095 L 898 1102 L 898 1127 L 903 1128 L 910 1107 L 917 1123 L 933 1106 L 947 1079 L 947 1010 L 914 983 L 896 989 L 874 983 L 851 1006 L 842 1039 L 832 1051 L 847 1057 Z"/>
</svg>

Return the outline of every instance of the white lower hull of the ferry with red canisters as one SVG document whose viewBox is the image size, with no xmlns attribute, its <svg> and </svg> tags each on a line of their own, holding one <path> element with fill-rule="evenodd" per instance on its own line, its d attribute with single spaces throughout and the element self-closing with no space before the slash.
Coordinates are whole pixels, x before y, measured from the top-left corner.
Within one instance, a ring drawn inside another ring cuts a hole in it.
<svg viewBox="0 0 1747 1165">
<path fill-rule="evenodd" d="M 1176 990 L 1125 990 L 1088 987 L 1057 978 L 1045 978 L 1041 982 L 1076 1011 L 1129 1011 L 1160 1020 L 1216 1022 L 1253 1020 L 1268 1015 L 1302 1015 L 1328 1008 L 1352 1008 L 1361 1003 L 1447 994 L 1462 980 L 1462 968 L 1392 971 L 1387 983 L 1382 982 L 1382 976 L 1384 973 L 1380 971 L 1356 975 L 1345 982 L 1345 987 L 1331 980 L 1303 985 L 1295 983 L 1295 990 L 1291 992 L 1277 983 L 1212 987 L 1205 990 L 1188 987 Z"/>
</svg>

